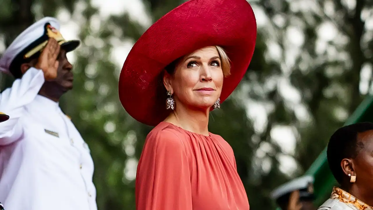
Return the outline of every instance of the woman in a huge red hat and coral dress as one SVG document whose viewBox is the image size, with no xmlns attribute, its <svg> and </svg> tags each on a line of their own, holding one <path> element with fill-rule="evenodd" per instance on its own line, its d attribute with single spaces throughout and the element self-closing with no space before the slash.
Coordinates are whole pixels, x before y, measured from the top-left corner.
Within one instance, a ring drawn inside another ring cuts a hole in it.
<svg viewBox="0 0 373 210">
<path fill-rule="evenodd" d="M 190 0 L 132 47 L 120 101 L 136 120 L 156 126 L 137 168 L 138 210 L 249 209 L 232 148 L 208 122 L 245 74 L 256 31 L 246 0 Z"/>
</svg>

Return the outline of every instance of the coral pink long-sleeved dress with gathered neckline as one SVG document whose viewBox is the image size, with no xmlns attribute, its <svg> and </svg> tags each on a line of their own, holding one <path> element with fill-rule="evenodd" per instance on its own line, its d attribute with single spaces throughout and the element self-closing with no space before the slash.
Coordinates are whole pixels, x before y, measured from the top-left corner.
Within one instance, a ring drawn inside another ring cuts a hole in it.
<svg viewBox="0 0 373 210">
<path fill-rule="evenodd" d="M 137 167 L 137 210 L 249 210 L 231 146 L 162 122 Z"/>
</svg>

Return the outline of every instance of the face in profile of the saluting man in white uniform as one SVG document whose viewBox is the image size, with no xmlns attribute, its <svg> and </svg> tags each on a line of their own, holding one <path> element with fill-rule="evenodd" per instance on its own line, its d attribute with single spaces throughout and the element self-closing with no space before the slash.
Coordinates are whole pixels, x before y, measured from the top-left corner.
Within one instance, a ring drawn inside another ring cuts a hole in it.
<svg viewBox="0 0 373 210">
<path fill-rule="evenodd" d="M 67 92 L 73 87 L 73 73 L 72 65 L 66 57 L 66 51 L 62 48 L 57 57 L 57 61 L 59 62 L 57 77 L 52 81 L 46 81 L 46 83 L 50 83 L 48 86 L 53 84 L 53 86 L 56 86 L 55 88 L 58 88 L 63 92 Z"/>
</svg>

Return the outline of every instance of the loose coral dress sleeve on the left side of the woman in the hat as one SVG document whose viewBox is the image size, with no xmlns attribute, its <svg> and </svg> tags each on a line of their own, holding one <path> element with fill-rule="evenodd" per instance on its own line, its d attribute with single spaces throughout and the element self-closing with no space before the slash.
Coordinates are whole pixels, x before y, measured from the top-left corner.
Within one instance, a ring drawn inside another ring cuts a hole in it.
<svg viewBox="0 0 373 210">
<path fill-rule="evenodd" d="M 192 210 L 188 157 L 171 130 L 149 135 L 137 168 L 137 210 Z"/>
</svg>

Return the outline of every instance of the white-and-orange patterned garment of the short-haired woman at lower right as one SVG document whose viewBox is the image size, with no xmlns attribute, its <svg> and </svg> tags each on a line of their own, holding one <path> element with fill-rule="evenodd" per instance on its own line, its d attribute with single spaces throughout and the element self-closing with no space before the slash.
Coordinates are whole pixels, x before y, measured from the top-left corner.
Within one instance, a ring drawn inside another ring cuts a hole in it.
<svg viewBox="0 0 373 210">
<path fill-rule="evenodd" d="M 334 187 L 330 199 L 317 210 L 373 210 L 373 207 L 358 200 L 348 192 Z"/>
</svg>

